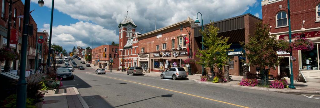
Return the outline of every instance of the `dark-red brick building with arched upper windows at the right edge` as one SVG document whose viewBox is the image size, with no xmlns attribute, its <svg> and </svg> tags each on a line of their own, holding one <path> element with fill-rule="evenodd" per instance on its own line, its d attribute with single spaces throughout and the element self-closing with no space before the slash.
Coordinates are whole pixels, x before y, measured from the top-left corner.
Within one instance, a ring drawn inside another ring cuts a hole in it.
<svg viewBox="0 0 320 108">
<path fill-rule="evenodd" d="M 280 39 L 288 39 L 288 4 L 286 0 L 263 0 L 262 18 L 264 24 L 271 26 L 270 32 Z M 290 0 L 290 19 L 292 41 L 297 37 L 306 37 L 314 43 L 311 51 L 294 50 L 292 52 L 292 67 L 294 79 L 299 70 L 309 82 L 320 82 L 319 47 L 320 47 L 320 0 Z M 305 21 L 305 22 L 303 22 Z M 303 29 L 301 29 L 303 28 Z M 270 70 L 270 74 L 290 72 L 289 53 L 280 53 L 283 57 L 276 70 Z"/>
</svg>

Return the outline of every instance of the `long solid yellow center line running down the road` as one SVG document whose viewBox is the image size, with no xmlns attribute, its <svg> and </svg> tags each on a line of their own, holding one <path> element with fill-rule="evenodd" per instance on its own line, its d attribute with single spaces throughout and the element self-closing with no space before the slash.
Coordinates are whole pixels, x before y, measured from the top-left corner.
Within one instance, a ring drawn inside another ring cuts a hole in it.
<svg viewBox="0 0 320 108">
<path fill-rule="evenodd" d="M 90 73 L 88 73 L 90 74 Z M 91 74 L 91 75 L 96 75 L 96 74 Z M 99 75 L 98 75 L 99 76 Z M 123 80 L 123 79 L 118 79 L 118 78 L 113 78 L 113 77 L 108 77 L 108 76 L 102 76 L 102 77 L 107 77 L 107 78 L 112 78 L 112 79 L 116 79 L 116 80 L 122 80 L 122 81 L 128 81 L 128 82 L 132 82 L 132 83 L 136 83 L 136 84 L 141 84 L 141 85 L 145 85 L 145 86 L 149 86 L 149 87 L 154 87 L 154 88 L 158 88 L 158 89 L 164 89 L 164 88 L 160 88 L 160 87 L 156 87 L 156 86 L 152 86 L 152 85 L 147 85 L 147 84 L 143 84 L 143 83 L 139 83 L 139 82 L 134 82 L 134 81 L 129 81 L 129 80 Z M 164 80 L 164 79 L 163 79 Z M 169 79 L 167 79 L 169 80 Z M 239 107 L 243 107 L 243 108 L 249 108 L 246 106 L 241 106 L 241 105 L 237 105 L 237 104 L 231 104 L 228 102 L 223 102 L 223 101 L 219 101 L 219 100 L 215 100 L 215 99 L 210 99 L 210 98 L 206 98 L 206 97 L 202 97 L 202 96 L 197 96 L 197 95 L 192 95 L 192 94 L 188 94 L 188 93 L 184 93 L 184 92 L 180 92 L 180 91 L 175 91 L 175 90 L 171 90 L 171 89 L 164 89 L 164 90 L 168 90 L 168 91 L 172 91 L 172 92 L 177 92 L 180 94 L 185 94 L 185 95 L 189 95 L 189 96 L 194 96 L 194 97 L 199 97 L 199 98 L 203 98 L 203 99 L 207 99 L 207 100 L 212 100 L 212 101 L 216 101 L 216 102 L 220 102 L 220 103 L 224 103 L 224 104 L 230 104 L 230 105 L 235 105 L 235 106 L 239 106 Z"/>
</svg>

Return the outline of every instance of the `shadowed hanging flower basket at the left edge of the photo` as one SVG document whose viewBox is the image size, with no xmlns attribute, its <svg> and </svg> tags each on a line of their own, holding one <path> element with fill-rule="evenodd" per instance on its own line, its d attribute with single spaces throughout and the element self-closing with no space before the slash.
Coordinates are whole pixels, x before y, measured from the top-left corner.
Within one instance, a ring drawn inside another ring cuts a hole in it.
<svg viewBox="0 0 320 108">
<path fill-rule="evenodd" d="M 0 61 L 5 61 L 5 60 L 16 60 L 16 59 L 19 59 L 20 56 L 19 56 L 19 53 L 17 52 L 14 52 L 10 49 L 0 49 Z"/>
</svg>

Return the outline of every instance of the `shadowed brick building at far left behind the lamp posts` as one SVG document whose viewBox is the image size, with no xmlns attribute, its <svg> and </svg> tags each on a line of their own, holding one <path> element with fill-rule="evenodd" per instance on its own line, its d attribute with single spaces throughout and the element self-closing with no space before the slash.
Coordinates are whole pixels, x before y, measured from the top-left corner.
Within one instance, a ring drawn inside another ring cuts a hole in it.
<svg viewBox="0 0 320 108">
<path fill-rule="evenodd" d="M 3 5 L 4 4 L 4 5 Z M 5 2 L 5 0 L 0 0 L 0 48 L 6 47 L 7 41 L 7 24 L 8 24 L 8 17 L 9 17 L 9 3 Z M 23 18 L 17 18 L 20 15 L 23 15 L 24 4 L 22 1 L 18 1 L 12 5 L 12 23 L 11 29 L 19 30 L 19 38 L 18 44 L 10 44 L 10 49 L 16 52 L 21 53 L 21 40 L 22 40 L 22 23 Z M 33 35 L 28 36 L 28 47 L 27 47 L 27 67 L 26 69 L 34 69 L 35 68 L 35 49 L 36 49 L 36 33 L 37 33 L 37 24 L 30 15 L 30 24 L 33 25 Z M 30 51 L 31 50 L 31 51 Z M 31 53 L 30 53 L 31 52 Z M 1 64 L 1 63 L 0 63 Z M 4 63 L 1 64 L 4 66 Z M 10 61 L 10 67 L 13 70 L 18 70 L 20 67 L 20 60 Z"/>
</svg>

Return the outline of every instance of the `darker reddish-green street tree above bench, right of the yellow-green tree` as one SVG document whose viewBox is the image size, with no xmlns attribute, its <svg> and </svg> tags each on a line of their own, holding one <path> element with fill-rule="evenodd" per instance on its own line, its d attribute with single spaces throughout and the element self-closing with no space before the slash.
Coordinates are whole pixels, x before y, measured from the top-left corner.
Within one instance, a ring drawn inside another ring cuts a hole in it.
<svg viewBox="0 0 320 108">
<path fill-rule="evenodd" d="M 259 65 L 264 72 L 265 67 L 278 66 L 281 58 L 276 51 L 279 50 L 280 41 L 276 40 L 276 35 L 269 35 L 268 25 L 262 25 L 258 22 L 255 27 L 254 35 L 249 35 L 249 42 L 240 44 L 249 53 L 244 53 L 248 58 L 250 65 Z"/>
</svg>

